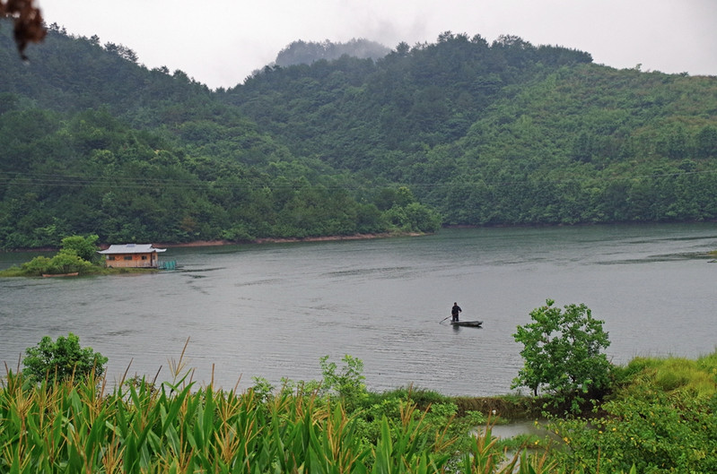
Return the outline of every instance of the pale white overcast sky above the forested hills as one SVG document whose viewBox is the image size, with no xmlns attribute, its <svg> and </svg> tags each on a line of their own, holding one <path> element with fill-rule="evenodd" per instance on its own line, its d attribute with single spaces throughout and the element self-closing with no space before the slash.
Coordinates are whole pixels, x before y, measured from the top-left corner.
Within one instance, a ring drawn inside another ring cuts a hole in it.
<svg viewBox="0 0 717 474">
<path fill-rule="evenodd" d="M 717 0 L 39 0 L 68 33 L 232 87 L 292 41 L 433 43 L 443 31 L 587 51 L 597 64 L 717 75 Z M 29 51 L 31 54 L 31 50 Z"/>
</svg>

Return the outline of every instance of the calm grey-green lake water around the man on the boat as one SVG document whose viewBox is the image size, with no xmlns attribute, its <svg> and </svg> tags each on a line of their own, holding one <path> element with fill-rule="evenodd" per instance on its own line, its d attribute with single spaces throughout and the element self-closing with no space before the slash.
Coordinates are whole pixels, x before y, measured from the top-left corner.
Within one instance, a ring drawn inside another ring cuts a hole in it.
<svg viewBox="0 0 717 474">
<path fill-rule="evenodd" d="M 452 395 L 510 392 L 512 339 L 555 299 L 605 321 L 608 356 L 696 357 L 717 344 L 717 224 L 445 229 L 434 236 L 171 248 L 178 271 L 0 279 L 0 361 L 74 332 L 117 380 L 170 377 L 189 338 L 195 379 L 240 388 L 320 378 L 319 358 L 363 359 L 373 390 L 414 384 Z M 32 254 L 0 254 L 0 268 Z M 440 322 L 453 301 L 482 329 Z"/>
</svg>

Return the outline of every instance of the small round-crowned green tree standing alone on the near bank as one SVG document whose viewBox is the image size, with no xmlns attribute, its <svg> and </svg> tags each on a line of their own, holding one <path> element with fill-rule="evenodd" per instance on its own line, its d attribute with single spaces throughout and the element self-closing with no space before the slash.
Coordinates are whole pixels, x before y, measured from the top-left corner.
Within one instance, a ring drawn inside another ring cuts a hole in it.
<svg viewBox="0 0 717 474">
<path fill-rule="evenodd" d="M 562 311 L 554 303 L 547 299 L 546 306 L 531 311 L 533 323 L 519 325 L 513 334 L 525 360 L 513 388 L 527 386 L 536 396 L 544 388 L 555 401 L 579 401 L 580 393 L 608 386 L 611 365 L 602 352 L 610 345 L 608 332 L 584 304 Z"/>
</svg>

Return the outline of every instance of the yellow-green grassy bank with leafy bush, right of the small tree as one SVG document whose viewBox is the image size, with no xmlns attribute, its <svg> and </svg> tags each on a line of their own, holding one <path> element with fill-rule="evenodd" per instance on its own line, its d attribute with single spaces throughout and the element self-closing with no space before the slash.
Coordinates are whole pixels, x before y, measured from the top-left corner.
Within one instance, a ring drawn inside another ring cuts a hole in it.
<svg viewBox="0 0 717 474">
<path fill-rule="evenodd" d="M 599 417 L 552 423 L 565 448 L 555 459 L 585 472 L 717 472 L 716 359 L 634 358 Z"/>
</svg>

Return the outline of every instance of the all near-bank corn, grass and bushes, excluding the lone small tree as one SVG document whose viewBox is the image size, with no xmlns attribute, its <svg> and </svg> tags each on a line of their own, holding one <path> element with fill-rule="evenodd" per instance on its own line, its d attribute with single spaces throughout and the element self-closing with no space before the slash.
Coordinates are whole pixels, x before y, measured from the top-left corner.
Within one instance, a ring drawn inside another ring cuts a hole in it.
<svg viewBox="0 0 717 474">
<path fill-rule="evenodd" d="M 717 470 L 717 352 L 614 366 L 605 396 L 578 412 L 551 394 L 370 392 L 350 356 L 341 366 L 321 358 L 320 381 L 255 378 L 246 392 L 197 386 L 181 357 L 171 382 L 135 377 L 108 389 L 97 376 L 106 362 L 73 334 L 27 349 L 22 373 L 0 386 L 0 472 Z M 526 414 L 547 418 L 542 431 L 494 438 L 502 415 Z"/>
</svg>

